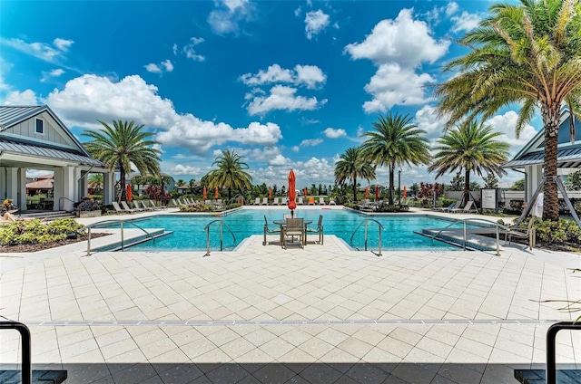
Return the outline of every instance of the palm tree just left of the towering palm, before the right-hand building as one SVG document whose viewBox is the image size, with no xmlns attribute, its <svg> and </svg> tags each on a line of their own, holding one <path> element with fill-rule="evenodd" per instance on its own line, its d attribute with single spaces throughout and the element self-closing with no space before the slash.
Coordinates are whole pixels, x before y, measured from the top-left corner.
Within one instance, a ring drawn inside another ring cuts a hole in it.
<svg viewBox="0 0 581 384">
<path fill-rule="evenodd" d="M 507 162 L 510 144 L 497 140 L 500 132 L 493 132 L 492 127 L 469 121 L 458 126 L 438 139 L 434 148 L 434 162 L 428 172 L 438 171 L 436 178 L 448 172 L 458 173 L 464 169 L 464 194 L 462 200 L 468 202 L 470 195 L 470 173 L 482 176 L 502 176 L 507 172 L 501 166 Z"/>
</svg>

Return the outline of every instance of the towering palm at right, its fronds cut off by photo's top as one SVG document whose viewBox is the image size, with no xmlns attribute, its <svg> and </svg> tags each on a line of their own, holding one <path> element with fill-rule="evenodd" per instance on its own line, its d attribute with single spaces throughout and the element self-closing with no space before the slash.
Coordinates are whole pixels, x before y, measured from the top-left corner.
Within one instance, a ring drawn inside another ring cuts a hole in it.
<svg viewBox="0 0 581 384">
<path fill-rule="evenodd" d="M 470 52 L 445 66 L 459 73 L 436 87 L 438 110 L 450 128 L 519 105 L 518 136 L 539 108 L 545 130 L 544 216 L 556 221 L 552 178 L 560 110 L 568 105 L 578 115 L 581 104 L 581 1 L 520 0 L 520 5 L 492 5 L 490 12 L 459 41 Z"/>
</svg>

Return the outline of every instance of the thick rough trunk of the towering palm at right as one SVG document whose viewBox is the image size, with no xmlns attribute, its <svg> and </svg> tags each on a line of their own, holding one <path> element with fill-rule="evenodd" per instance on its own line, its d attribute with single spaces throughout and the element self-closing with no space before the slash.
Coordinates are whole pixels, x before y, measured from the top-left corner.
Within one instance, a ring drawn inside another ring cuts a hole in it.
<svg viewBox="0 0 581 384">
<path fill-rule="evenodd" d="M 550 177 L 556 176 L 556 146 L 557 134 L 559 131 L 559 108 L 558 105 L 553 110 L 543 108 L 543 124 L 545 125 L 545 160 L 543 168 L 545 170 L 545 197 L 543 204 L 544 218 L 557 221 L 559 219 L 559 197 L 557 195 L 556 184 Z"/>
</svg>

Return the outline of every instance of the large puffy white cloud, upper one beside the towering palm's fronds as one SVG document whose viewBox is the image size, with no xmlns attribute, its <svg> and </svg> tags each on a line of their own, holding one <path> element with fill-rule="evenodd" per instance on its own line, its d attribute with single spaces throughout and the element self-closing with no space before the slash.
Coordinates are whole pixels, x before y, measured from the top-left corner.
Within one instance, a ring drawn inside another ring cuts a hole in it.
<svg viewBox="0 0 581 384">
<path fill-rule="evenodd" d="M 436 62 L 448 52 L 450 42 L 436 41 L 428 25 L 414 20 L 410 9 L 402 9 L 395 20 L 382 20 L 362 43 L 350 43 L 345 52 L 351 59 L 369 59 L 380 65 L 397 62 L 416 68 L 421 62 Z"/>
</svg>

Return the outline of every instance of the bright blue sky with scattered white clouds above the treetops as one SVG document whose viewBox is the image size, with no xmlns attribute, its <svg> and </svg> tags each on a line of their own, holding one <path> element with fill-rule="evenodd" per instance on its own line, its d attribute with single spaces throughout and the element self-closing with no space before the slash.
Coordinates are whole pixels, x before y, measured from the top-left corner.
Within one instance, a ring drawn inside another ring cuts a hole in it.
<svg viewBox="0 0 581 384">
<path fill-rule="evenodd" d="M 331 184 L 340 154 L 379 114 L 409 114 L 438 139 L 444 121 L 426 86 L 452 75 L 442 66 L 466 53 L 453 39 L 492 4 L 4 1 L 0 103 L 47 104 L 82 141 L 97 120 L 135 120 L 154 132 L 175 179 L 199 180 L 231 149 L 254 184 L 284 185 L 290 168 L 301 186 Z M 541 125 L 516 139 L 516 120 L 501 110 L 488 121 L 511 155 Z M 404 185 L 435 178 L 401 171 Z M 388 184 L 387 169 L 377 174 Z"/>
</svg>

